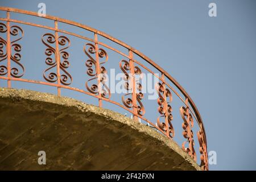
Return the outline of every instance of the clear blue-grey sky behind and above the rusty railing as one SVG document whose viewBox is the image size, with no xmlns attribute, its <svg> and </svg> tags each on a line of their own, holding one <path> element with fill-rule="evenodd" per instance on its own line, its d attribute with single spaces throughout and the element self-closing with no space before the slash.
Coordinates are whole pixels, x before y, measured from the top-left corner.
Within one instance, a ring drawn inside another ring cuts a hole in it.
<svg viewBox="0 0 256 182">
<path fill-rule="evenodd" d="M 217 165 L 211 165 L 210 169 L 256 169 L 256 1 L 1 0 L 0 6 L 38 11 L 40 2 L 46 3 L 47 14 L 106 32 L 138 49 L 176 78 L 200 111 L 208 151 L 217 152 Z M 217 17 L 208 15 L 210 2 L 217 5 Z M 22 17 L 15 15 L 15 18 Z M 41 20 L 41 23 L 48 22 Z M 20 42 L 24 52 L 22 61 L 24 65 L 27 63 L 26 73 L 36 75 L 38 72 L 30 72 L 30 68 L 40 65 L 47 68 L 43 54 L 46 47 L 40 40 L 47 30 L 31 31 L 28 26 L 21 26 L 25 31 Z M 73 30 L 69 27 L 69 31 Z M 72 45 L 79 43 L 85 42 L 74 40 Z M 82 46 L 78 49 L 81 53 L 70 57 L 73 65 L 76 63 L 72 60 L 86 60 Z M 118 66 L 118 62 L 109 61 L 109 67 Z M 85 67 L 81 72 L 71 72 L 74 78 L 78 77 L 77 82 L 84 84 L 79 78 L 82 79 Z M 39 76 L 42 80 L 42 74 Z M 40 90 L 40 86 L 37 88 Z M 45 91 L 51 89 L 54 88 Z M 67 96 L 73 97 L 71 93 Z M 77 96 L 81 97 L 84 96 Z M 181 127 L 181 121 L 176 127 Z"/>
</svg>

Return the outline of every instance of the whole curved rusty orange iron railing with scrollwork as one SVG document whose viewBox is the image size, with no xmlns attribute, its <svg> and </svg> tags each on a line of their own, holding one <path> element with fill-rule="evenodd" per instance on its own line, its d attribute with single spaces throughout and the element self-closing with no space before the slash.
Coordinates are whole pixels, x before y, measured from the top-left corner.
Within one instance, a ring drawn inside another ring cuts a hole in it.
<svg viewBox="0 0 256 182">
<path fill-rule="evenodd" d="M 174 138 L 175 135 L 174 127 L 172 125 L 173 115 L 171 107 L 172 93 L 174 93 L 184 104 L 184 106 L 181 106 L 179 109 L 181 118 L 183 119 L 182 129 L 183 137 L 185 138 L 185 142 L 182 143 L 182 148 L 191 156 L 192 159 L 197 161 L 196 151 L 194 148 L 195 141 L 193 139 L 194 136 L 192 131 L 193 119 L 195 119 L 199 126 L 199 131 L 197 131 L 197 140 L 199 141 L 200 166 L 203 170 L 208 170 L 207 139 L 199 111 L 197 110 L 197 107 L 192 101 L 191 97 L 189 97 L 188 93 L 185 92 L 185 90 L 172 76 L 164 71 L 164 69 L 159 67 L 158 64 L 154 63 L 154 61 L 149 59 L 147 56 L 143 55 L 133 47 L 121 42 L 120 40 L 117 40 L 104 32 L 90 28 L 83 24 L 57 18 L 55 16 L 42 16 L 35 12 L 13 9 L 9 7 L 0 7 L 0 11 L 6 12 L 6 17 L 0 18 L 0 21 L 2 21 L 0 22 L 0 79 L 7 81 L 8 88 L 11 88 L 12 81 L 22 81 L 55 86 L 57 88 L 58 96 L 61 94 L 61 89 L 75 90 L 77 92 L 96 97 L 100 107 L 102 107 L 102 101 L 107 101 L 122 107 L 122 109 L 125 109 L 133 114 L 135 120 L 141 121 L 142 119 L 143 121 L 147 122 L 148 125 L 154 127 L 156 130 L 166 135 L 166 137 L 170 139 Z M 54 22 L 54 27 L 32 22 L 25 22 L 18 19 L 11 19 L 11 13 L 38 16 L 40 18 L 52 20 Z M 88 38 L 74 32 L 62 30 L 58 28 L 58 24 L 60 22 L 93 32 L 94 37 Z M 42 43 L 46 46 L 45 55 L 47 57 L 46 64 L 48 66 L 48 68 L 46 68 L 43 72 L 43 78 L 46 81 L 23 78 L 25 67 L 22 64 L 20 53 L 22 46 L 19 44 L 19 40 L 21 40 L 23 36 L 26 36 L 26 34 L 23 31 L 23 28 L 17 24 L 25 24 L 28 26 L 44 28 L 48 31 L 53 31 L 52 34 L 47 32 L 42 36 Z M 60 33 L 63 35 L 59 35 Z M 86 81 L 85 87 L 82 89 L 69 86 L 73 81 L 71 74 L 67 71 L 70 65 L 68 61 L 69 53 L 67 51 L 71 44 L 71 40 L 69 40 L 66 35 L 75 36 L 76 38 L 88 41 L 88 43 L 85 43 L 83 51 L 88 57 L 85 65 L 87 67 L 87 74 L 90 78 L 88 81 Z M 109 39 L 111 42 L 127 49 L 127 53 L 123 53 L 117 48 L 98 41 L 98 36 Z M 104 66 L 107 64 L 106 62 L 108 61 L 109 55 L 103 48 L 100 48 L 100 46 L 110 49 L 125 57 L 125 59 L 119 61 L 119 71 L 123 72 L 125 75 L 125 82 L 123 86 L 127 90 L 127 93 L 122 95 L 121 104 L 112 100 L 111 98 L 111 90 L 106 84 L 105 77 L 108 75 L 108 73 L 106 72 L 106 68 Z M 144 62 L 135 59 L 134 56 L 138 56 Z M 16 65 L 16 67 L 13 65 Z M 153 72 L 148 67 L 154 67 L 156 71 Z M 55 72 L 51 72 L 53 69 L 55 69 Z M 142 75 L 142 69 L 159 79 L 159 81 L 156 83 L 155 91 L 158 94 L 156 106 L 158 106 L 158 113 L 160 115 L 156 119 L 155 124 L 150 118 L 144 117 L 146 110 L 143 106 L 143 93 L 141 92 L 142 84 L 139 84 L 138 80 L 136 80 L 136 76 Z M 90 84 L 90 82 L 93 81 L 96 81 L 96 84 Z"/>
</svg>

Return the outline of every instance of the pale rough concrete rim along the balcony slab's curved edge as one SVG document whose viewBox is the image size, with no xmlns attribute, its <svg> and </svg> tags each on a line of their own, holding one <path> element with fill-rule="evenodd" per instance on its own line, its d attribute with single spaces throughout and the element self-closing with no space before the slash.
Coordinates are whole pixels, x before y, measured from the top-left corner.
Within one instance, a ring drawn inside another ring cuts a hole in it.
<svg viewBox="0 0 256 182">
<path fill-rule="evenodd" d="M 115 111 L 85 104 L 73 98 L 59 97 L 49 93 L 42 93 L 25 89 L 0 88 L 0 99 L 8 99 L 14 102 L 20 100 L 46 102 L 48 104 L 59 105 L 61 107 L 72 107 L 76 110 L 76 112 L 80 114 L 98 115 L 105 118 L 105 122 L 111 122 L 112 125 L 108 125 L 108 127 L 121 128 L 123 126 L 128 126 L 131 130 L 134 130 L 134 132 L 138 132 L 139 135 L 143 137 L 146 136 L 147 139 L 144 140 L 144 144 L 153 144 L 154 146 L 157 143 L 155 150 L 159 150 L 167 156 L 172 152 L 175 152 L 177 155 L 179 155 L 179 158 L 183 159 L 183 162 L 180 163 L 181 170 L 201 170 L 200 166 L 194 160 L 192 160 L 192 158 L 186 152 L 184 152 L 174 140 L 168 139 L 150 127 L 136 122 L 133 119 L 127 118 Z"/>
</svg>

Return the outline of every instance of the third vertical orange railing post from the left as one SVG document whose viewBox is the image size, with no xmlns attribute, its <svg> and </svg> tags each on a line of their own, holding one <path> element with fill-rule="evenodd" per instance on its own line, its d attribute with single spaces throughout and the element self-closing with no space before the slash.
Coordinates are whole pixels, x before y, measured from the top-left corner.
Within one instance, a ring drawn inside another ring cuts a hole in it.
<svg viewBox="0 0 256 182">
<path fill-rule="evenodd" d="M 97 82 L 98 82 L 98 106 L 102 106 L 102 100 L 101 100 L 101 79 L 100 79 L 100 74 L 101 74 L 101 68 L 100 68 L 100 60 L 98 57 L 98 36 L 96 33 L 94 33 L 94 40 L 95 40 L 95 53 L 96 53 L 96 76 L 97 76 Z"/>
</svg>

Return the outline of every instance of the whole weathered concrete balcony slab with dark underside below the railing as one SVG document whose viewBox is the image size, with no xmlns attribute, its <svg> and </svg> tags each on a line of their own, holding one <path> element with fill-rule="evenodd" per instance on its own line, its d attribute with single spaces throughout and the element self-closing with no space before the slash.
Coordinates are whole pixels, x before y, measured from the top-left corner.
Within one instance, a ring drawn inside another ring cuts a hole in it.
<svg viewBox="0 0 256 182">
<path fill-rule="evenodd" d="M 38 151 L 47 164 L 38 164 Z M 108 109 L 0 88 L 0 169 L 200 170 L 174 142 Z"/>
</svg>

